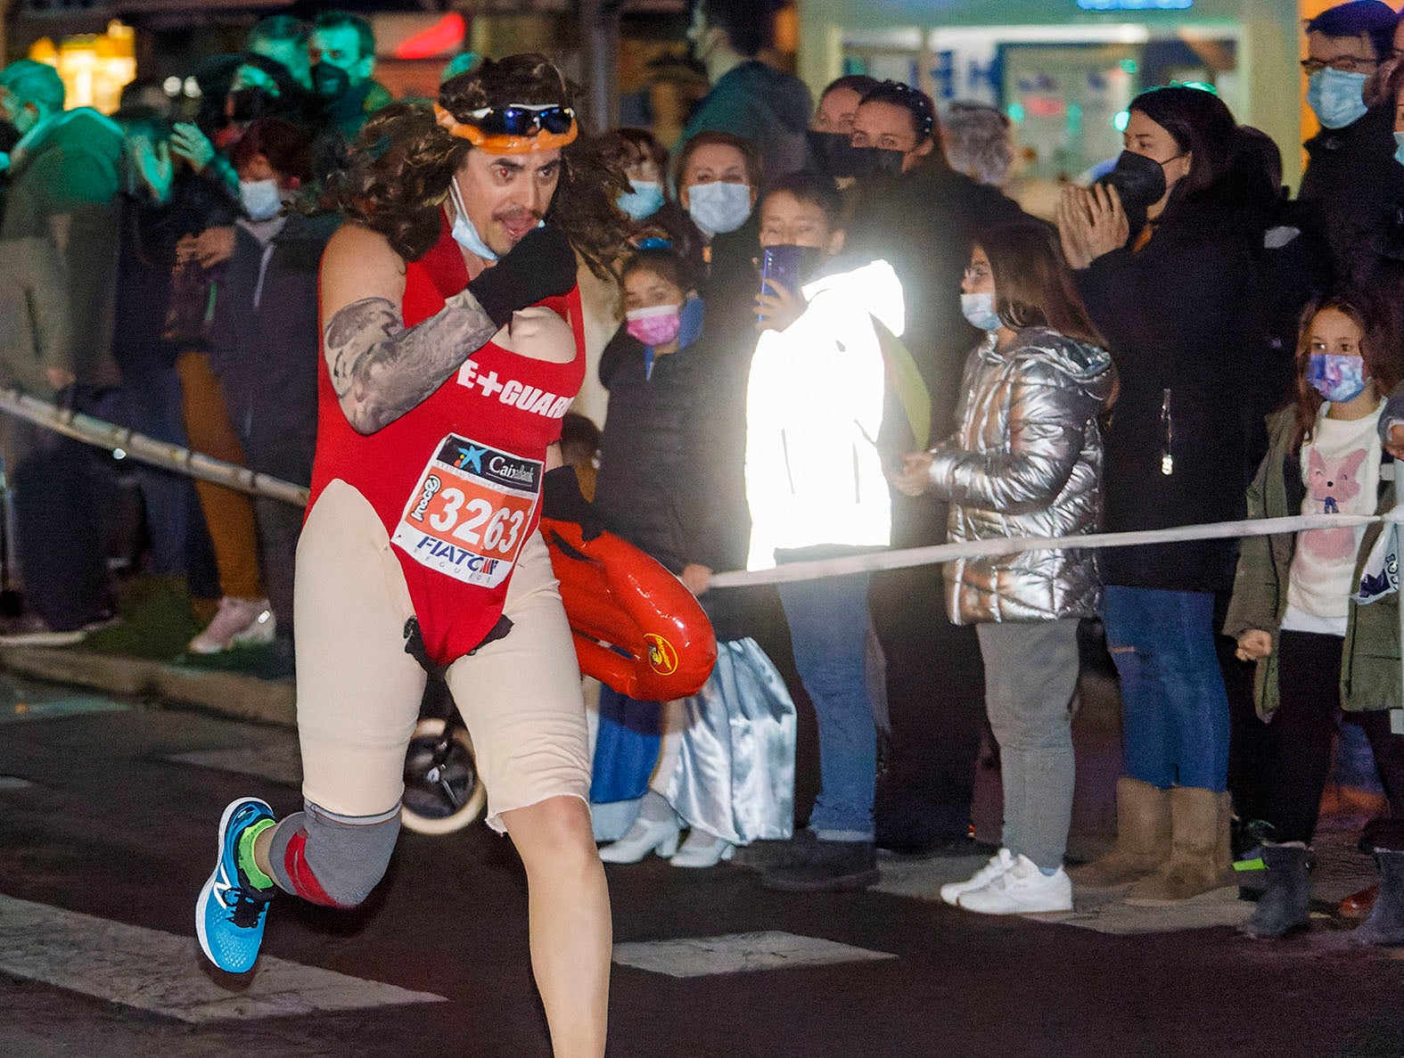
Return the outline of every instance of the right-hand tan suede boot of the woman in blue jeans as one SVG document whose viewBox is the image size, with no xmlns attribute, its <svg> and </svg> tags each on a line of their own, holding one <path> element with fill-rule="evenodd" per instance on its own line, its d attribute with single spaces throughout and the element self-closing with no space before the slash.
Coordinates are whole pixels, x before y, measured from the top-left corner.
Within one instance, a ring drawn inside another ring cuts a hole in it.
<svg viewBox="0 0 1404 1058">
<path fill-rule="evenodd" d="M 1227 793 L 1195 786 L 1171 790 L 1170 859 L 1153 876 L 1132 885 L 1126 902 L 1158 908 L 1236 884 L 1228 855 L 1230 811 Z"/>
</svg>

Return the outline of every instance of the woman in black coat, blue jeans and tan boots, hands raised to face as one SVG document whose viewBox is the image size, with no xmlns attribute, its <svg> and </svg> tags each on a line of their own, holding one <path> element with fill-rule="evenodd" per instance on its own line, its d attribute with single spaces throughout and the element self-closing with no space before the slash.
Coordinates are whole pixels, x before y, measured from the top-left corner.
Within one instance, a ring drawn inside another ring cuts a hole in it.
<svg viewBox="0 0 1404 1058">
<path fill-rule="evenodd" d="M 1250 474 L 1245 312 L 1272 202 L 1217 95 L 1157 88 L 1132 101 L 1111 185 L 1070 188 L 1059 230 L 1116 361 L 1106 432 L 1106 528 L 1243 518 Z M 1228 700 L 1214 595 L 1234 540 L 1102 554 L 1104 620 L 1122 682 L 1126 776 L 1118 846 L 1078 881 L 1134 881 L 1127 899 L 1186 899 L 1230 884 Z"/>
</svg>

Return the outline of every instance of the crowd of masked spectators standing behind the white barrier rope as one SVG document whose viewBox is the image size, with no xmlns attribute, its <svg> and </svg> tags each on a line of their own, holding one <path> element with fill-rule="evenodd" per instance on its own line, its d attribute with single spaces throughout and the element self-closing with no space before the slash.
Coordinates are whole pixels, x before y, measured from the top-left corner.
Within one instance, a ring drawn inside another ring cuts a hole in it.
<svg viewBox="0 0 1404 1058">
<path fill-rule="evenodd" d="M 1165 905 L 1243 883 L 1261 891 L 1244 932 L 1276 937 L 1307 925 L 1344 710 L 1390 805 L 1360 839 L 1382 888 L 1356 901 L 1355 936 L 1404 943 L 1398 603 L 1355 598 L 1377 526 L 855 574 L 782 585 L 769 612 L 709 589 L 722 570 L 894 546 L 1391 508 L 1400 14 L 1352 0 L 1307 22 L 1321 130 L 1296 198 L 1280 152 L 1297 145 L 1168 86 L 1133 100 L 1115 164 L 1038 217 L 1005 194 L 1019 150 L 998 111 L 938 114 L 865 76 L 812 105 L 757 59 L 761 7 L 701 0 L 689 39 L 710 90 L 677 142 L 605 133 L 598 171 L 574 177 L 615 188 L 614 213 L 580 213 L 569 189 L 546 213 L 590 243 L 590 377 L 564 459 L 719 644 L 691 699 L 601 693 L 601 857 L 708 867 L 746 849 L 767 887 L 813 891 L 872 884 L 879 848 L 980 848 L 988 863 L 942 899 L 998 915 L 1066 911 L 1082 887 Z M 479 62 L 445 69 L 445 105 Z M 0 70 L 0 383 L 306 486 L 322 253 L 365 220 L 357 181 L 431 143 L 407 130 L 437 119 L 375 80 L 348 14 L 267 18 L 194 76 L 190 112 L 138 80 L 107 118 L 65 109 L 49 66 Z M 406 260 L 463 212 L 449 188 L 414 194 L 438 198 L 390 236 Z M 121 619 L 111 463 L 14 418 L 0 449 L 3 587 L 24 602 L 0 643 L 81 641 Z M 145 570 L 183 580 L 208 620 L 190 651 L 265 644 L 265 675 L 289 675 L 300 514 L 136 477 Z M 792 689 L 755 637 L 781 616 L 817 717 L 800 829 Z M 1104 629 L 1118 838 L 1068 869 L 1070 703 Z M 976 762 L 994 755 L 1002 831 L 972 841 Z"/>
</svg>

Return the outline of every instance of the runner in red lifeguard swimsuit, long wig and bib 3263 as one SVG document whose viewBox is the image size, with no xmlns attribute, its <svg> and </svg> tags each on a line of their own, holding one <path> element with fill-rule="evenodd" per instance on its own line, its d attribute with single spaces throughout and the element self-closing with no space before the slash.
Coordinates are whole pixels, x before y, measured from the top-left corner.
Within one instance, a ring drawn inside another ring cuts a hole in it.
<svg viewBox="0 0 1404 1058">
<path fill-rule="evenodd" d="M 560 74 L 519 55 L 445 83 L 432 111 L 380 111 L 358 139 L 350 223 L 322 264 L 298 550 L 305 804 L 281 821 L 257 798 L 229 805 L 197 930 L 243 972 L 275 892 L 365 899 L 399 832 L 424 667 L 444 668 L 487 822 L 526 869 L 555 1052 L 600 1055 L 609 901 L 576 654 L 538 532 L 548 446 L 585 365 L 576 254 L 604 268 L 626 187 L 577 135 Z"/>
</svg>

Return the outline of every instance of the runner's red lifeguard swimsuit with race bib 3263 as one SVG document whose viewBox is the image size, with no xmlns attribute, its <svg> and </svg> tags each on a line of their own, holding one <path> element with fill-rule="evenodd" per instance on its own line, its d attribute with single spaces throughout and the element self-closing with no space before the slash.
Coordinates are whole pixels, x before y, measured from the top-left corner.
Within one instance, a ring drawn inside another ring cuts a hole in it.
<svg viewBox="0 0 1404 1058">
<path fill-rule="evenodd" d="M 404 276 L 404 326 L 468 285 L 448 222 Z M 427 400 L 373 434 L 347 421 L 323 356 L 310 511 L 327 483 L 369 501 L 390 537 L 428 655 L 463 657 L 497 624 L 522 544 L 541 521 L 546 446 L 585 373 L 580 290 L 541 304 L 570 321 L 576 356 L 532 359 L 489 342 Z M 361 575 L 347 570 L 347 577 Z"/>
</svg>

